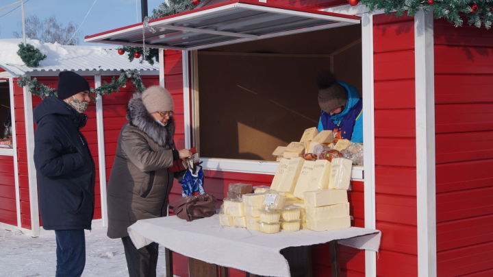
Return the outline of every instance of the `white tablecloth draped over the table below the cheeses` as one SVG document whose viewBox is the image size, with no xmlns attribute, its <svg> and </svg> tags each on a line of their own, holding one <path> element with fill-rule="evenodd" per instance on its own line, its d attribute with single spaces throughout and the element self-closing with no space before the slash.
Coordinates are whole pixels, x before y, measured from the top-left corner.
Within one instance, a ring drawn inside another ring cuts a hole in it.
<svg viewBox="0 0 493 277">
<path fill-rule="evenodd" d="M 136 248 L 155 241 L 184 256 L 263 276 L 290 276 L 283 248 L 338 240 L 342 245 L 378 251 L 381 232 L 368 228 L 264 234 L 222 227 L 218 215 L 187 222 L 176 216 L 139 220 L 128 228 Z"/>
</svg>

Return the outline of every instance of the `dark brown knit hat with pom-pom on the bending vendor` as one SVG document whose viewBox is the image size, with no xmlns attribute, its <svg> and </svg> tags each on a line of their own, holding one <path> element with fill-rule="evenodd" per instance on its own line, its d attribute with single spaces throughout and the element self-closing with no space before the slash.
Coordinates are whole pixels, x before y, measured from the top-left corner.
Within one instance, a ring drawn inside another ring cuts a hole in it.
<svg viewBox="0 0 493 277">
<path fill-rule="evenodd" d="M 317 78 L 318 105 L 324 112 L 329 113 L 346 105 L 348 93 L 336 81 L 336 77 L 330 72 L 322 73 Z"/>
</svg>

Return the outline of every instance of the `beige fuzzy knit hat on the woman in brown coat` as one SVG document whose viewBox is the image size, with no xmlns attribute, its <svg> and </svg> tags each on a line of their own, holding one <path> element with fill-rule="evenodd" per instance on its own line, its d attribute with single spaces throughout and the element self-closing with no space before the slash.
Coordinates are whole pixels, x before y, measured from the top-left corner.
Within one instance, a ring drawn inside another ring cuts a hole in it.
<svg viewBox="0 0 493 277">
<path fill-rule="evenodd" d="M 142 93 L 142 103 L 150 114 L 173 110 L 173 98 L 166 88 L 149 86 Z"/>
</svg>

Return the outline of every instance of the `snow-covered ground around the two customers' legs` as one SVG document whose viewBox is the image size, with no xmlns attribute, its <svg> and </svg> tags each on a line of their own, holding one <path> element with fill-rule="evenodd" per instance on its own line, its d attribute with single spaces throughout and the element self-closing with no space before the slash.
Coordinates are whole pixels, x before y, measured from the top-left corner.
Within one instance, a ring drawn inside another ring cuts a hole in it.
<svg viewBox="0 0 493 277">
<path fill-rule="evenodd" d="M 55 276 L 55 232 L 33 238 L 19 230 L 0 227 L 0 276 Z M 157 276 L 165 276 L 164 248 L 160 247 Z M 86 230 L 86 268 L 82 276 L 128 276 L 121 239 L 106 237 L 106 228 Z"/>
</svg>

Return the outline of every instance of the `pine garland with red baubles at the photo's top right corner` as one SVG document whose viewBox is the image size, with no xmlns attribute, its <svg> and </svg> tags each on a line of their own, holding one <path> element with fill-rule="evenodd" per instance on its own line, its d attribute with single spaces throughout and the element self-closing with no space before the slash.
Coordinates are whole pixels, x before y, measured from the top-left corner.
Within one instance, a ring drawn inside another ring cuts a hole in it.
<svg viewBox="0 0 493 277">
<path fill-rule="evenodd" d="M 446 19 L 455 27 L 462 26 L 462 16 L 466 15 L 467 23 L 476 27 L 485 26 L 490 29 L 493 22 L 492 0 L 361 0 L 370 10 L 383 9 L 385 14 L 396 12 L 401 16 L 406 10 L 414 16 L 418 10 L 433 10 L 435 19 Z"/>
</svg>

